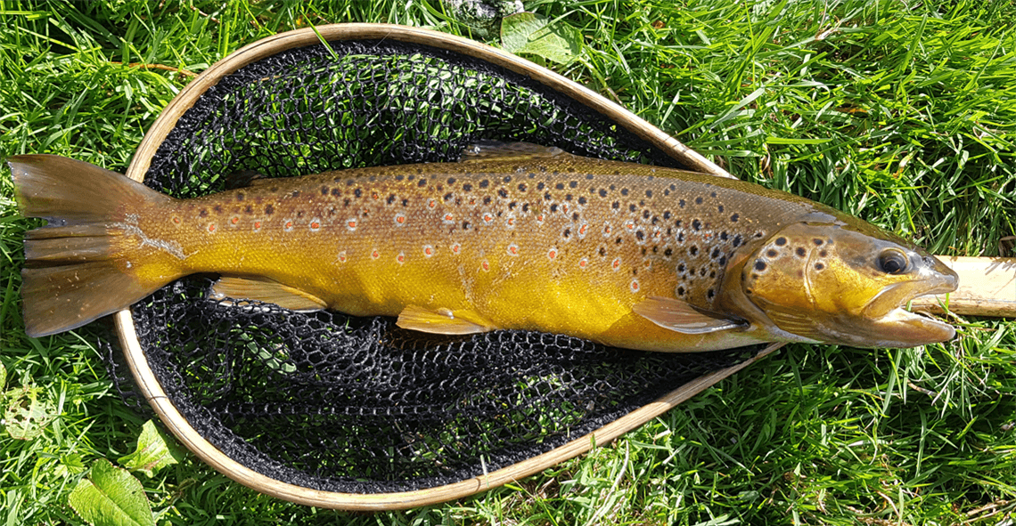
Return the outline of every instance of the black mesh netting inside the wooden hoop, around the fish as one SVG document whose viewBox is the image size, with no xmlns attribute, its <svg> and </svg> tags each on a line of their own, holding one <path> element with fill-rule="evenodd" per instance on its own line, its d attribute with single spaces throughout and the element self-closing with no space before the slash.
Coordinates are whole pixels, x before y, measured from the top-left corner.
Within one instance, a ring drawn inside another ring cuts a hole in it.
<svg viewBox="0 0 1016 526">
<path fill-rule="evenodd" d="M 177 123 L 145 183 L 190 197 L 240 170 L 281 177 L 454 160 L 481 138 L 677 166 L 489 63 L 397 42 L 331 48 L 283 52 L 221 79 Z M 134 306 L 149 365 L 228 456 L 323 490 L 421 489 L 506 467 L 754 351 L 636 352 L 521 331 L 435 338 L 385 318 L 221 306 L 205 300 L 210 282 L 186 278 Z"/>
</svg>

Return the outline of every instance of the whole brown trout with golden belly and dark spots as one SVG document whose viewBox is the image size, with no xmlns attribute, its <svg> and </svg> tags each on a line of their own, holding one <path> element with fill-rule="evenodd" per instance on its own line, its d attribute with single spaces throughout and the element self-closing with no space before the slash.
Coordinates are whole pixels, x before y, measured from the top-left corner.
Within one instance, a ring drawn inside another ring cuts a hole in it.
<svg viewBox="0 0 1016 526">
<path fill-rule="evenodd" d="M 526 329 L 695 351 L 767 341 L 906 347 L 954 335 L 911 299 L 956 274 L 828 206 L 709 175 L 483 144 L 460 162 L 254 179 L 180 200 L 53 155 L 8 159 L 25 330 L 43 336 L 197 272 L 217 300 Z M 238 307 L 239 308 L 239 307 Z"/>
</svg>

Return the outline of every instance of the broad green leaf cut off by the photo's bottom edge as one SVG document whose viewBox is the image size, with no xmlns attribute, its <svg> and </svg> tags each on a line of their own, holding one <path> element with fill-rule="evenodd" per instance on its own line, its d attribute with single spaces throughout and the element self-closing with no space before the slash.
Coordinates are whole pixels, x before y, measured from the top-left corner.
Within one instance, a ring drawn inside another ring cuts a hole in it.
<svg viewBox="0 0 1016 526">
<path fill-rule="evenodd" d="M 141 482 L 125 469 L 101 458 L 70 492 L 67 503 L 92 526 L 154 526 Z"/>
</svg>

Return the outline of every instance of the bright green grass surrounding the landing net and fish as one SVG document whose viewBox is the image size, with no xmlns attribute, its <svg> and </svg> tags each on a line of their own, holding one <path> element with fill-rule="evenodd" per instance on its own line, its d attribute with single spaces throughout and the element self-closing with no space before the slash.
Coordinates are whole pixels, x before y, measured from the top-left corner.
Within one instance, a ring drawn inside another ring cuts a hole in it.
<svg viewBox="0 0 1016 526">
<path fill-rule="evenodd" d="M 581 31 L 559 72 L 742 179 L 858 214 L 940 254 L 1012 256 L 1016 7 L 1011 2 L 547 0 Z M 276 31 L 388 21 L 469 36 L 433 1 L 0 1 L 0 155 L 123 171 L 200 72 Z M 497 44 L 495 41 L 493 44 Z M 153 68 L 146 65 L 161 65 Z M 177 71 L 180 68 L 180 71 Z M 58 417 L 0 439 L 0 521 L 81 524 L 67 496 L 143 418 L 85 327 L 24 335 L 23 232 L 0 172 L 3 390 Z M 161 524 L 1011 524 L 1016 323 L 956 319 L 916 349 L 793 345 L 624 439 L 443 506 L 356 515 L 254 494 L 193 456 L 141 475 Z"/>
</svg>

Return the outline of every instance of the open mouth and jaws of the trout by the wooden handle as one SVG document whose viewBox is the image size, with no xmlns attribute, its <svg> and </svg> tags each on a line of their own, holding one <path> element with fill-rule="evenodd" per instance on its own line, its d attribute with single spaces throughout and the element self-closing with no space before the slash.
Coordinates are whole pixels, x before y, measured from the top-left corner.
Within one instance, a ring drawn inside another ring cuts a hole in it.
<svg viewBox="0 0 1016 526">
<path fill-rule="evenodd" d="M 952 269 L 946 269 L 948 272 L 926 279 L 887 286 L 864 308 L 864 316 L 883 329 L 882 346 L 912 347 L 950 340 L 956 335 L 952 325 L 907 309 L 916 298 L 956 290 L 959 277 Z"/>
</svg>

